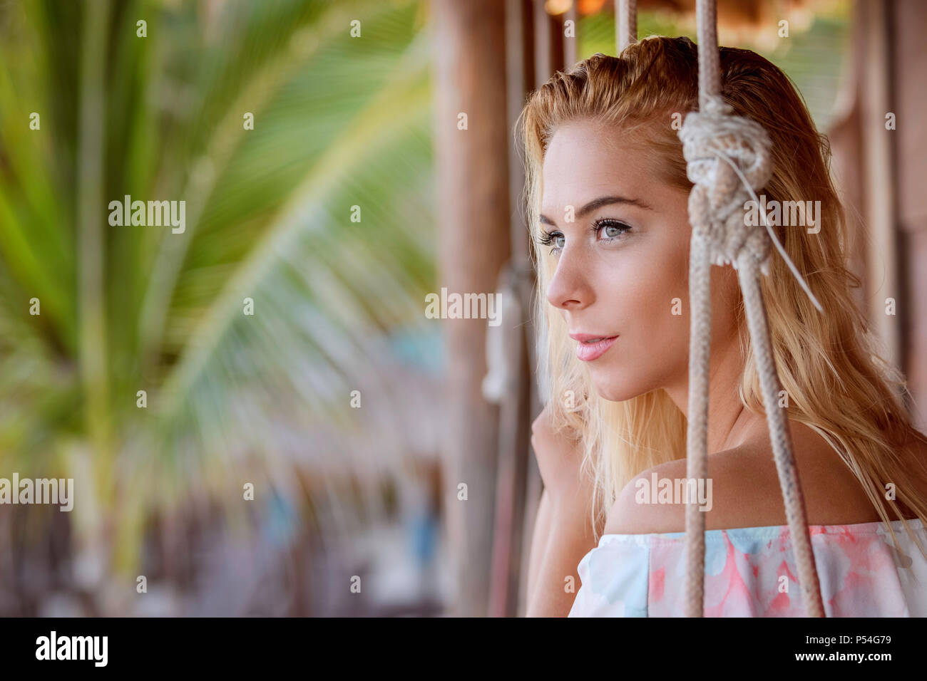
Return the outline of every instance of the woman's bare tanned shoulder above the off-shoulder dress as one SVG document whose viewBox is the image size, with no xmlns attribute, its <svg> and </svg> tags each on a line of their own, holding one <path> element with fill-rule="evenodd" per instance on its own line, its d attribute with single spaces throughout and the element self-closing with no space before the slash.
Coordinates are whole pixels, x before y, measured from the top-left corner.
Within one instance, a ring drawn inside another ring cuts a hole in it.
<svg viewBox="0 0 927 681">
<path fill-rule="evenodd" d="M 869 497 L 843 460 L 813 429 L 791 422 L 798 475 L 808 524 L 855 524 L 879 520 Z M 616 498 L 604 534 L 642 535 L 685 530 L 686 460 L 648 469 Z M 708 479 L 692 487 L 705 509 L 705 529 L 786 524 L 772 448 L 757 437 L 740 448 L 708 457 Z"/>
</svg>

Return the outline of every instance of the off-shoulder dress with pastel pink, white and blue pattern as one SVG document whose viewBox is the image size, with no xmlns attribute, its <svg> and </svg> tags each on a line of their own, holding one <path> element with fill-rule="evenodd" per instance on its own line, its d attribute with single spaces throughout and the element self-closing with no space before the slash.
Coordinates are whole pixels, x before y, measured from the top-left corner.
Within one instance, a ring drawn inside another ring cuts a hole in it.
<svg viewBox="0 0 927 681">
<path fill-rule="evenodd" d="M 811 525 L 828 617 L 927 616 L 927 560 L 904 523 Z M 908 528 L 927 549 L 927 528 Z M 685 533 L 603 535 L 578 565 L 570 617 L 679 617 Z M 705 533 L 706 617 L 805 617 L 788 526 Z"/>
</svg>

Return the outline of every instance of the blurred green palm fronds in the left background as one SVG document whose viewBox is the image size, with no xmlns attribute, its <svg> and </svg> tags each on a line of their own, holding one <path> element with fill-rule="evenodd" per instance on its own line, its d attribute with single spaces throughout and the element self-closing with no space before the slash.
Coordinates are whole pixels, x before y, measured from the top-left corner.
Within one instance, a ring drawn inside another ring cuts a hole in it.
<svg viewBox="0 0 927 681">
<path fill-rule="evenodd" d="M 52 474 L 75 442 L 99 445 L 95 419 L 111 432 L 120 503 L 135 511 L 199 488 L 231 504 L 243 480 L 291 486 L 294 467 L 375 475 L 400 465 L 412 447 L 400 410 L 414 402 L 395 396 L 421 386 L 397 380 L 391 338 L 428 338 L 417 332 L 434 279 L 418 10 L 378 0 L 0 6 L 5 468 Z M 40 130 L 29 128 L 33 111 Z M 97 157 L 98 191 L 87 172 Z M 124 195 L 184 200 L 184 233 L 108 225 L 108 202 Z M 84 285 L 94 281 L 98 290 Z M 103 311 L 93 323 L 92 309 Z M 361 410 L 350 409 L 353 390 Z M 362 423 L 377 426 L 366 447 L 351 435 Z M 97 493 L 108 503 L 112 491 Z"/>
</svg>

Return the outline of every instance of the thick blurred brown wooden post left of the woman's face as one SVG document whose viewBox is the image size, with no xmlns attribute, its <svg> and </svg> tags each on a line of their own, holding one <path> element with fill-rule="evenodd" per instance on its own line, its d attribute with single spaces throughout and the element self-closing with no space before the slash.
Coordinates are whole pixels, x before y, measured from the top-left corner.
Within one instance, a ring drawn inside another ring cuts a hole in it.
<svg viewBox="0 0 927 681">
<path fill-rule="evenodd" d="M 510 253 L 504 3 L 433 0 L 432 9 L 439 216 L 436 293 L 447 287 L 449 294 L 492 294 Z M 448 319 L 441 324 L 446 349 L 442 501 L 451 579 L 457 588 L 451 614 L 484 616 L 499 427 L 498 408 L 481 392 L 488 322 Z M 462 485 L 466 500 L 460 498 Z"/>
</svg>

